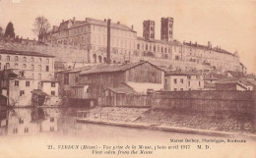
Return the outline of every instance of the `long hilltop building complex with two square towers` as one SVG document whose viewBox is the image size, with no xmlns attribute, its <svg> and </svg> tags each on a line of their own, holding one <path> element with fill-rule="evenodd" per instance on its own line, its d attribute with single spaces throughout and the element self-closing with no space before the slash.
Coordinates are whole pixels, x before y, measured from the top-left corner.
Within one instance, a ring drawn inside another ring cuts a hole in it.
<svg viewBox="0 0 256 158">
<path fill-rule="evenodd" d="M 173 39 L 173 19 L 161 18 L 160 40 L 155 38 L 155 22 L 143 23 L 143 37 L 137 35 L 133 26 L 120 22 L 110 25 L 110 52 L 112 63 L 140 61 L 172 63 L 175 69 L 200 69 L 246 72 L 239 62 L 237 52 L 230 53 L 221 46 L 212 47 Z M 79 45 L 87 50 L 89 63 L 106 62 L 107 20 L 86 18 L 85 21 L 62 21 L 45 35 L 45 41 Z M 160 65 L 157 64 L 157 65 Z M 199 67 L 200 66 L 200 67 Z"/>
</svg>

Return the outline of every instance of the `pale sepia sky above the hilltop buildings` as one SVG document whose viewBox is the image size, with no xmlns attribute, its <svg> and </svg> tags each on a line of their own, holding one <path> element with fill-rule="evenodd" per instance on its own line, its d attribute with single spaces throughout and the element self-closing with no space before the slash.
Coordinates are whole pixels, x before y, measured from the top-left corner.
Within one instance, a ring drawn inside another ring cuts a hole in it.
<svg viewBox="0 0 256 158">
<path fill-rule="evenodd" d="M 238 52 L 249 73 L 256 74 L 256 0 L 0 0 L 0 26 L 9 22 L 23 38 L 35 38 L 34 19 L 44 16 L 51 26 L 62 20 L 111 19 L 134 26 L 142 36 L 143 21 L 156 23 L 160 39 L 160 18 L 174 19 L 175 39 L 221 46 Z"/>
</svg>

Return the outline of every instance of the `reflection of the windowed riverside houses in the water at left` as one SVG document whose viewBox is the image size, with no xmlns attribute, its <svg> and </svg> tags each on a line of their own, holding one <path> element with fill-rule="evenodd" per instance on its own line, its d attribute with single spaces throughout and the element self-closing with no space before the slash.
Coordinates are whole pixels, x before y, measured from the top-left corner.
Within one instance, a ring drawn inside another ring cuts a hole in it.
<svg viewBox="0 0 256 158">
<path fill-rule="evenodd" d="M 57 109 L 19 108 L 2 110 L 1 135 L 55 132 L 58 130 Z"/>
</svg>

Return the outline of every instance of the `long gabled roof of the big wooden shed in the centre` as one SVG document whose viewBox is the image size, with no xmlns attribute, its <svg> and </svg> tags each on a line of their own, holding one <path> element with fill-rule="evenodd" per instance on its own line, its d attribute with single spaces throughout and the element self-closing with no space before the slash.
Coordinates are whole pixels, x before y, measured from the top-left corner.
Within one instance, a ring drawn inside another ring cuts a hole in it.
<svg viewBox="0 0 256 158">
<path fill-rule="evenodd" d="M 124 65 L 114 65 L 114 66 L 103 65 L 101 67 L 92 68 L 91 70 L 88 70 L 88 71 L 83 71 L 80 73 L 80 75 L 83 76 L 83 75 L 97 74 L 97 73 L 124 72 L 124 71 L 132 69 L 136 66 L 145 64 L 145 63 L 149 63 L 149 64 L 153 65 L 154 67 L 160 69 L 158 66 L 156 66 L 148 61 L 142 61 L 139 63 L 129 63 L 129 64 L 124 64 Z"/>
</svg>

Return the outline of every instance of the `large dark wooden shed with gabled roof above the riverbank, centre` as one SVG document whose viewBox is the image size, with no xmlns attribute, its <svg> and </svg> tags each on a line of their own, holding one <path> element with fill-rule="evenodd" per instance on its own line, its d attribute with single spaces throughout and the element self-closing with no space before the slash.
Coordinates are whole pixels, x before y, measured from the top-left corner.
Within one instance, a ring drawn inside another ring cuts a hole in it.
<svg viewBox="0 0 256 158">
<path fill-rule="evenodd" d="M 124 87 L 124 84 L 137 93 L 161 90 L 163 89 L 163 79 L 163 70 L 148 61 L 115 66 L 104 65 L 82 71 L 79 76 L 80 83 L 90 85 L 88 92 L 95 98 L 107 88 L 120 91 L 118 87 Z"/>
</svg>

